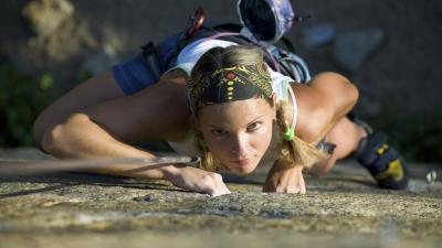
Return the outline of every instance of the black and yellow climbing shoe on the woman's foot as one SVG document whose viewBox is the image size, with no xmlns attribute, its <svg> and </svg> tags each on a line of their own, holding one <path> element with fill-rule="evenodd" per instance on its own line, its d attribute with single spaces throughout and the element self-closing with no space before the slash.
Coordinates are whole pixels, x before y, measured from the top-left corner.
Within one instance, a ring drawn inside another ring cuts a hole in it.
<svg viewBox="0 0 442 248">
<path fill-rule="evenodd" d="M 382 188 L 404 190 L 410 179 L 406 161 L 388 142 L 385 132 L 371 132 L 359 141 L 355 158 Z"/>
</svg>

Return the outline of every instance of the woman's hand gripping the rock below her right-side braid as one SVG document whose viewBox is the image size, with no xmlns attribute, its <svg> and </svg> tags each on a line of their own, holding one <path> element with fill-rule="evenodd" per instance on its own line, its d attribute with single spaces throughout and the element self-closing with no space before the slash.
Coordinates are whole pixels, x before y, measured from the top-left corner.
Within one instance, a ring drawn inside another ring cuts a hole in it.
<svg viewBox="0 0 442 248">
<path fill-rule="evenodd" d="M 269 171 L 263 191 L 305 194 L 303 166 L 277 160 Z"/>
</svg>

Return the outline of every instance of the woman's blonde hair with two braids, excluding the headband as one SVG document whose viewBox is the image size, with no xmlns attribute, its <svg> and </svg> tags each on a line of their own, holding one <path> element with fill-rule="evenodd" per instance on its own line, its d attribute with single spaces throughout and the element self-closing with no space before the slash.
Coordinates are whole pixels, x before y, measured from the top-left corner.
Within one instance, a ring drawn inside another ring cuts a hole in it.
<svg viewBox="0 0 442 248">
<path fill-rule="evenodd" d="M 232 67 L 236 65 L 252 65 L 256 63 L 264 63 L 264 51 L 254 45 L 233 45 L 229 47 L 213 47 L 206 52 L 201 58 L 194 65 L 191 72 L 191 80 L 200 82 L 201 78 L 207 76 L 219 68 Z M 276 122 L 281 129 L 281 137 L 290 128 L 287 123 L 287 114 L 285 111 L 287 107 L 284 103 L 276 105 Z M 194 129 L 196 129 L 196 142 L 200 149 L 201 162 L 200 168 L 208 171 L 219 171 L 224 166 L 215 159 L 213 153 L 207 148 L 203 142 L 201 132 L 198 130 L 197 114 L 198 109 L 193 109 L 194 115 Z M 293 165 L 303 165 L 306 168 L 312 166 L 315 162 L 325 158 L 325 153 L 318 150 L 313 144 L 309 144 L 298 137 L 294 137 L 293 140 L 287 141 L 284 138 L 281 139 L 280 143 L 281 154 L 280 159 L 291 161 Z"/>
</svg>

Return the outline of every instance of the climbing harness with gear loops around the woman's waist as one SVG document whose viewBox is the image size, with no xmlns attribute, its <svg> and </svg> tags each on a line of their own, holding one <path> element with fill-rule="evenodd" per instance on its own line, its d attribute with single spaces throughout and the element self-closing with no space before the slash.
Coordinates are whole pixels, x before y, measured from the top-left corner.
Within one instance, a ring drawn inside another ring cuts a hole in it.
<svg viewBox="0 0 442 248">
<path fill-rule="evenodd" d="M 154 42 L 149 41 L 141 46 L 141 52 L 138 56 L 140 56 L 144 65 L 154 75 L 155 79 L 158 80 L 164 73 L 175 65 L 182 48 L 200 39 L 217 39 L 240 45 L 254 44 L 261 46 L 265 51 L 264 60 L 273 71 L 288 76 L 297 83 L 306 84 L 311 79 L 306 63 L 295 54 L 292 42 L 284 36 L 277 40 L 285 45 L 286 50 L 269 42 L 260 42 L 251 37 L 251 35 L 244 35 L 244 25 L 241 24 L 207 25 L 204 24 L 202 8 L 197 8 L 190 20 L 191 25 L 186 31 L 168 36 L 159 45 L 155 45 Z"/>
</svg>

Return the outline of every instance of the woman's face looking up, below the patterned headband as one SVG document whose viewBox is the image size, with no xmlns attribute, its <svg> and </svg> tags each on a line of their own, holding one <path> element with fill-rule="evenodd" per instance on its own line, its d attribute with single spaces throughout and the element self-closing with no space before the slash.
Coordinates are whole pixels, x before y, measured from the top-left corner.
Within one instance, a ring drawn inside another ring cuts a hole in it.
<svg viewBox="0 0 442 248">
<path fill-rule="evenodd" d="M 272 140 L 274 108 L 262 98 L 209 105 L 199 110 L 202 136 L 230 171 L 252 172 Z"/>
</svg>

